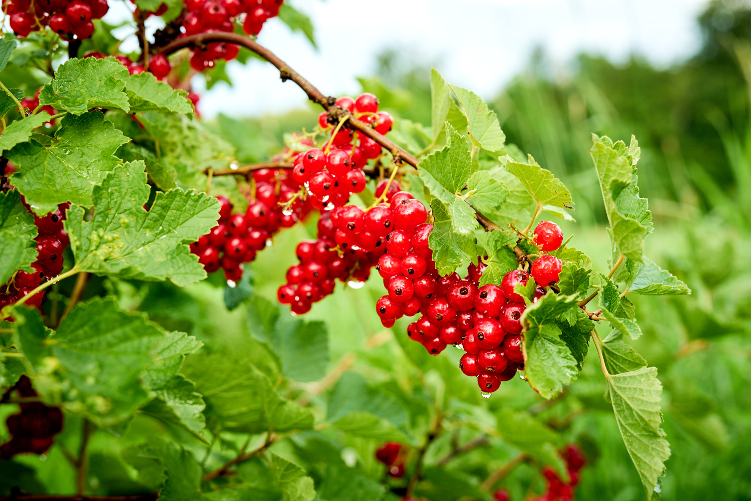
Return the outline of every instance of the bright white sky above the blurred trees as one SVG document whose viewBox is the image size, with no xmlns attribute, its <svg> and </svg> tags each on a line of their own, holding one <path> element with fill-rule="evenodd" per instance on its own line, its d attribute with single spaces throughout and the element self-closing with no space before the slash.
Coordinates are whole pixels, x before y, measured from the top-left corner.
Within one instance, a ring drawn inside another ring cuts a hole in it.
<svg viewBox="0 0 751 501">
<path fill-rule="evenodd" d="M 355 80 L 375 70 L 382 50 L 435 63 L 446 80 L 491 98 L 529 62 L 535 47 L 565 68 L 581 52 L 619 62 L 630 54 L 666 66 L 700 44 L 696 18 L 707 0 L 287 0 L 315 26 L 318 50 L 279 20 L 259 43 L 273 50 L 327 95 L 353 94 Z M 604 6 L 605 5 L 605 6 Z M 119 8 L 107 15 L 119 17 Z M 348 26 L 342 29 L 342 26 Z M 348 38 L 356 36 L 357 38 Z M 282 85 L 271 65 L 231 63 L 234 87 L 201 93 L 207 118 L 258 116 L 300 107 L 303 92 Z M 478 77 L 480 75 L 480 77 Z M 195 80 L 202 89 L 201 78 Z"/>
</svg>

